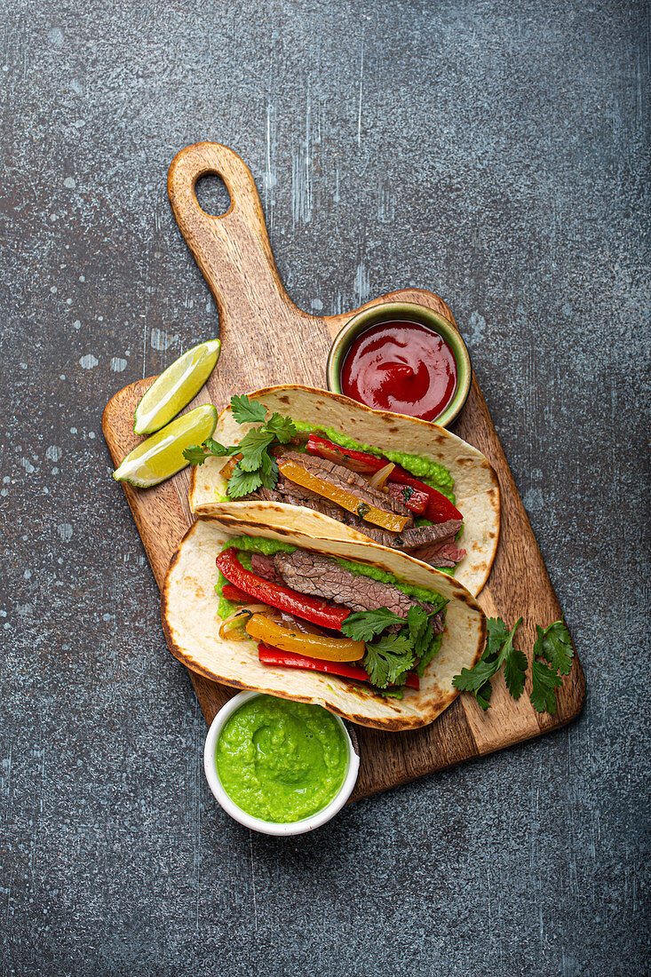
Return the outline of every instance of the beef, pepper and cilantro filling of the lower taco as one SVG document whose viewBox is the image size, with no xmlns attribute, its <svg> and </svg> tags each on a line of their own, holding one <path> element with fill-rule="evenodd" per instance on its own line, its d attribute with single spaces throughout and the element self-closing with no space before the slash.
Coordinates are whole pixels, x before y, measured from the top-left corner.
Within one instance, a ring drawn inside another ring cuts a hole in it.
<svg viewBox="0 0 651 977">
<path fill-rule="evenodd" d="M 447 602 L 377 568 L 247 536 L 216 563 L 220 637 L 253 638 L 265 664 L 330 672 L 400 698 L 440 649 Z"/>
</svg>

